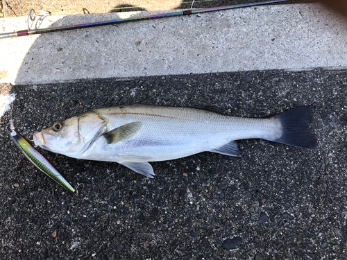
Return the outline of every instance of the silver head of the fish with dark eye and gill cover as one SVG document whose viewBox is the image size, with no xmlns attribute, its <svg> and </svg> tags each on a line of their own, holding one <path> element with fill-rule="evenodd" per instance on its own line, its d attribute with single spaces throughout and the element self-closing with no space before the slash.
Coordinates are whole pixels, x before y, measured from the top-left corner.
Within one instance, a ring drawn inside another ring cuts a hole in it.
<svg viewBox="0 0 347 260">
<path fill-rule="evenodd" d="M 35 132 L 33 141 L 45 150 L 76 158 L 101 135 L 105 125 L 98 114 L 85 112 Z"/>
</svg>

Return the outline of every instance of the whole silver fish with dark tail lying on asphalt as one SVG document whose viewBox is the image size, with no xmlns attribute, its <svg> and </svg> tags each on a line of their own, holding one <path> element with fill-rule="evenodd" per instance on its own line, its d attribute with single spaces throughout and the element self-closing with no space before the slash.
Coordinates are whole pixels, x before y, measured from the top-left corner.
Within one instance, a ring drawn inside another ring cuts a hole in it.
<svg viewBox="0 0 347 260">
<path fill-rule="evenodd" d="M 236 140 L 266 139 L 314 148 L 314 107 L 269 118 L 228 116 L 196 107 L 122 105 L 83 112 L 33 134 L 36 146 L 76 159 L 117 162 L 151 177 L 149 162 L 201 152 L 240 157 Z"/>
</svg>

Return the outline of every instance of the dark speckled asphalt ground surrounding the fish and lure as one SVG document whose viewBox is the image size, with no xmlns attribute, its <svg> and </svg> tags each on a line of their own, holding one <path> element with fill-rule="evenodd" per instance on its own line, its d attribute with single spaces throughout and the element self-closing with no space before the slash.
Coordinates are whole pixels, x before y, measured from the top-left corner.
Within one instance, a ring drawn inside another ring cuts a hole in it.
<svg viewBox="0 0 347 260">
<path fill-rule="evenodd" d="M 242 158 L 201 153 L 152 163 L 149 179 L 116 163 L 40 148 L 72 196 L 19 152 L 1 119 L 0 259 L 346 259 L 347 71 L 247 71 L 55 85 L 1 85 L 31 139 L 55 121 L 126 104 L 212 106 L 262 117 L 314 105 L 314 149 L 238 141 Z"/>
</svg>

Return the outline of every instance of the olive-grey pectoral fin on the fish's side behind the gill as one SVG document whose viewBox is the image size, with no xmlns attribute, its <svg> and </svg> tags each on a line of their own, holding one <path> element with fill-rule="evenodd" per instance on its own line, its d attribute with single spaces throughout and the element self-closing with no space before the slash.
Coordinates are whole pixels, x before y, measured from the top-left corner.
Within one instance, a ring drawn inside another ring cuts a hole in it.
<svg viewBox="0 0 347 260">
<path fill-rule="evenodd" d="M 133 137 L 141 128 L 142 122 L 126 123 L 109 132 L 105 132 L 103 136 L 108 140 L 108 144 L 116 143 L 117 141 L 124 141 Z"/>
</svg>

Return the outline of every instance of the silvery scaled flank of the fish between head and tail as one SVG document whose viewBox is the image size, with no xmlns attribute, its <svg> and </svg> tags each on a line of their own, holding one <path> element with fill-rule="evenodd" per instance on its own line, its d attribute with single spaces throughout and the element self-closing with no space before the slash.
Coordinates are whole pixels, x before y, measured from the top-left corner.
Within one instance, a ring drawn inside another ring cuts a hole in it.
<svg viewBox="0 0 347 260">
<path fill-rule="evenodd" d="M 103 142 L 103 139 L 99 139 L 83 153 L 85 159 L 102 160 L 112 150 L 119 151 L 119 157 L 139 155 L 149 158 L 148 162 L 177 159 L 213 150 L 235 139 L 263 138 L 276 123 L 269 119 L 244 119 L 187 107 L 178 107 L 177 110 L 172 107 L 127 108 L 113 112 L 103 109 L 93 111 L 108 120 L 110 129 L 141 121 L 145 122 L 142 130 L 129 141 L 103 146 L 102 153 L 96 154 L 95 148 Z M 148 140 L 155 140 L 157 145 L 151 145 Z"/>
</svg>

